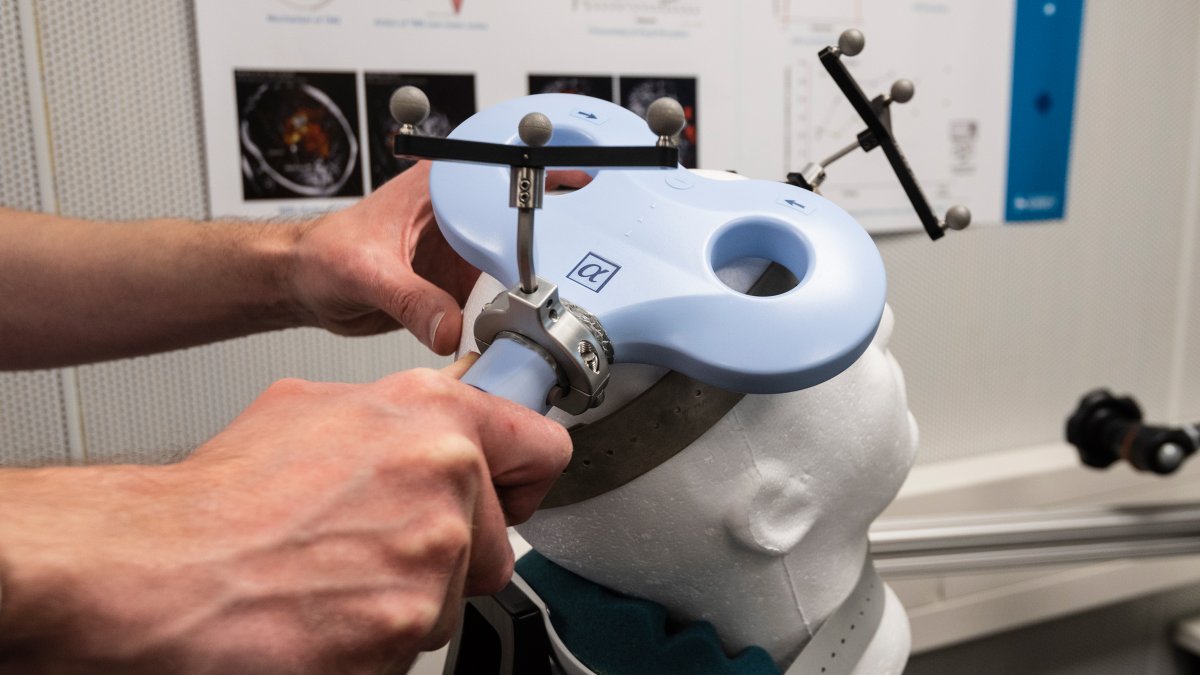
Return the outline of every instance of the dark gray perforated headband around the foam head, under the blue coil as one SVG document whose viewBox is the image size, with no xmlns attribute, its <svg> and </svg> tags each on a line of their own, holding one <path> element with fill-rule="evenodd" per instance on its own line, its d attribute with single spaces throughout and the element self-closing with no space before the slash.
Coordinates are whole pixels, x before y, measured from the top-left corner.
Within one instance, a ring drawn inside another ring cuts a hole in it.
<svg viewBox="0 0 1200 675">
<path fill-rule="evenodd" d="M 746 294 L 774 295 L 794 285 L 787 268 L 772 263 Z M 608 417 L 570 430 L 575 452 L 541 508 L 574 504 L 620 488 L 679 454 L 743 396 L 668 372 Z"/>
</svg>

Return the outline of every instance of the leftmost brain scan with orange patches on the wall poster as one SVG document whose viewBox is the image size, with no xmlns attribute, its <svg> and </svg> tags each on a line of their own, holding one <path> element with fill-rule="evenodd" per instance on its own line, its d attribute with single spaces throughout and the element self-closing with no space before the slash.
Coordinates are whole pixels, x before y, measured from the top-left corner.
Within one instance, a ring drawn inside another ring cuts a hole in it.
<svg viewBox="0 0 1200 675">
<path fill-rule="evenodd" d="M 354 73 L 236 71 L 242 196 L 361 197 Z"/>
</svg>

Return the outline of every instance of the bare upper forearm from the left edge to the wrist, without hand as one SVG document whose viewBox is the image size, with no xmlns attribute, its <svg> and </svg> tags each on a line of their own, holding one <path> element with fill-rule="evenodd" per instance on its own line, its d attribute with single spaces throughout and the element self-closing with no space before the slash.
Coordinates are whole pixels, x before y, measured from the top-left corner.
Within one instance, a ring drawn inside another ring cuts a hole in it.
<svg viewBox="0 0 1200 675">
<path fill-rule="evenodd" d="M 0 209 L 0 370 L 299 325 L 288 279 L 302 227 L 92 222 Z"/>
</svg>

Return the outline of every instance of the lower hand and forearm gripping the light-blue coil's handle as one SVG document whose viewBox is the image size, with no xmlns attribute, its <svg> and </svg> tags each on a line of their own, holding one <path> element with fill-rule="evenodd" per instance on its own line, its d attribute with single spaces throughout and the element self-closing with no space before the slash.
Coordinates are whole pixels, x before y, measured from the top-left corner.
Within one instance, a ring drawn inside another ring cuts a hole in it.
<svg viewBox="0 0 1200 675">
<path fill-rule="evenodd" d="M 0 671 L 404 669 L 509 580 L 505 524 L 569 448 L 446 372 L 280 382 L 179 465 L 58 470 L 44 516 L 0 510 Z"/>
</svg>

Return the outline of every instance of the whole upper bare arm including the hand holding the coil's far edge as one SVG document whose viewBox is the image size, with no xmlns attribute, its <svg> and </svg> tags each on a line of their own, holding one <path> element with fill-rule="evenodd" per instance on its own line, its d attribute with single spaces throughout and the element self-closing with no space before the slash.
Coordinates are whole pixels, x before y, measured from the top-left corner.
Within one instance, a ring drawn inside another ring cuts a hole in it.
<svg viewBox="0 0 1200 675">
<path fill-rule="evenodd" d="M 277 328 L 409 328 L 454 351 L 479 273 L 446 245 L 419 163 L 306 222 L 94 222 L 0 209 L 0 370 Z"/>
</svg>

